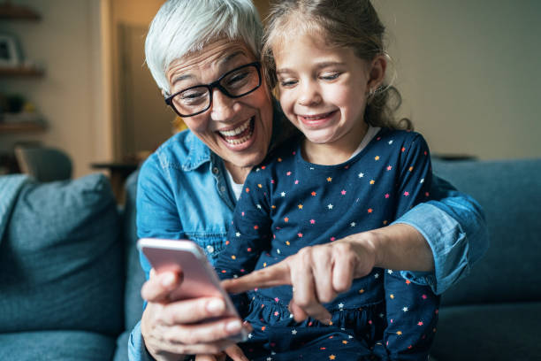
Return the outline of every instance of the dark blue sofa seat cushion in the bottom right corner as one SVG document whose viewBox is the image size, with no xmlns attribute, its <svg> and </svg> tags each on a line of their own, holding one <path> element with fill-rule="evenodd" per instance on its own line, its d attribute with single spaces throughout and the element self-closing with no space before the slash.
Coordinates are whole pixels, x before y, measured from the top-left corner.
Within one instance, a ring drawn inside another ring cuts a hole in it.
<svg viewBox="0 0 541 361">
<path fill-rule="evenodd" d="M 539 325 L 541 303 L 442 308 L 431 355 L 438 361 L 538 360 Z"/>
</svg>

